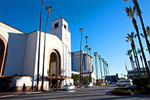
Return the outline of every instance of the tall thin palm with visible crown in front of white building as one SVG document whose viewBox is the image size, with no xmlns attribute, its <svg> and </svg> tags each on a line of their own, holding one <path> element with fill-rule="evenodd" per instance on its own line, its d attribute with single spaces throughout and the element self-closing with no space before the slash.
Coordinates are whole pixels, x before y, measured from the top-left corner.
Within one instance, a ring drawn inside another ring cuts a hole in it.
<svg viewBox="0 0 150 100">
<path fill-rule="evenodd" d="M 47 14 L 47 20 L 46 20 L 46 25 L 45 25 L 45 32 L 44 32 L 44 50 L 43 50 L 43 71 L 42 71 L 42 87 L 41 90 L 43 90 L 43 85 L 44 85 L 44 65 L 45 65 L 45 44 L 46 44 L 46 28 L 47 28 L 47 23 L 48 23 L 48 19 L 49 19 L 49 14 L 50 12 L 53 12 L 53 10 L 51 10 L 52 6 L 48 6 L 45 7 L 45 9 L 48 11 Z"/>
</svg>

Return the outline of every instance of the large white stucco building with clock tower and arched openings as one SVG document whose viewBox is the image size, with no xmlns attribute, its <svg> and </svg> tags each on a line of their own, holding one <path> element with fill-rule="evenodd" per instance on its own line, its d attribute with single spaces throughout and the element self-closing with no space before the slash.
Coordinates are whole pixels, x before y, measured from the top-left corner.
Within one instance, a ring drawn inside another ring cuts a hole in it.
<svg viewBox="0 0 150 100">
<path fill-rule="evenodd" d="M 16 89 L 21 90 L 25 83 L 27 89 L 36 89 L 37 84 L 41 87 L 45 33 L 39 34 L 38 30 L 26 34 L 0 22 L 0 86 L 15 84 Z M 50 84 L 63 86 L 73 83 L 68 23 L 63 18 L 53 20 L 45 36 L 44 89 L 49 89 Z"/>
</svg>

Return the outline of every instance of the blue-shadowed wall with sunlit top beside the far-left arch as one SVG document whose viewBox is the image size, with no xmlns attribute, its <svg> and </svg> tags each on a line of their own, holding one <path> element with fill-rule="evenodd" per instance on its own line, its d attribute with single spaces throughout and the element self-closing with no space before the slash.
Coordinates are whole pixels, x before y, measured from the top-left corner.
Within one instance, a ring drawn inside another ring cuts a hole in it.
<svg viewBox="0 0 150 100">
<path fill-rule="evenodd" d="M 26 47 L 26 34 L 2 22 L 0 22 L 0 34 L 8 43 L 4 75 L 22 75 Z"/>
</svg>

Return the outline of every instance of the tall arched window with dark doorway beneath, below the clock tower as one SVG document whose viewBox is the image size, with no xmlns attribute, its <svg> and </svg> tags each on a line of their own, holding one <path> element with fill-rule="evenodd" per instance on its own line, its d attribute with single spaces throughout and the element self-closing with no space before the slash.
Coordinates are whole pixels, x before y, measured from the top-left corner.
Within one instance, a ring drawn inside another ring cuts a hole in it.
<svg viewBox="0 0 150 100">
<path fill-rule="evenodd" d="M 49 88 L 57 88 L 61 85 L 61 81 L 58 78 L 61 76 L 61 60 L 60 54 L 56 50 L 50 52 L 47 75 L 52 77 L 49 81 Z"/>
</svg>

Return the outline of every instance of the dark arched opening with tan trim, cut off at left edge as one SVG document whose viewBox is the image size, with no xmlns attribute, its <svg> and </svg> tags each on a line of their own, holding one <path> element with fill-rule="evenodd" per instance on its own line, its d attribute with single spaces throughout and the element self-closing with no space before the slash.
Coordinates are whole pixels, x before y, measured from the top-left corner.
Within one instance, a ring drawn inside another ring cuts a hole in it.
<svg viewBox="0 0 150 100">
<path fill-rule="evenodd" d="M 7 53 L 7 42 L 4 39 L 4 37 L 0 35 L 0 76 L 4 74 L 6 53 Z"/>
</svg>

